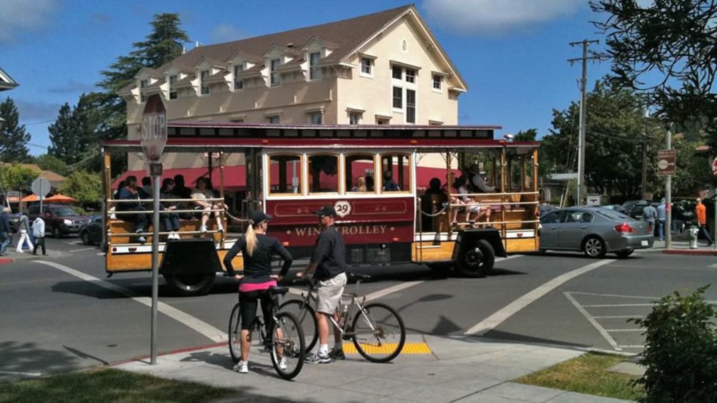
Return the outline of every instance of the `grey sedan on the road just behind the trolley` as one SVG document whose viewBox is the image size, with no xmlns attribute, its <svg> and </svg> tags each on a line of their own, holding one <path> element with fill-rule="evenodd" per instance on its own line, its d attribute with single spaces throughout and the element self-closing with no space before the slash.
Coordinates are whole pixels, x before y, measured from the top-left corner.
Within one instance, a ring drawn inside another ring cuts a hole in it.
<svg viewBox="0 0 717 403">
<path fill-rule="evenodd" d="M 543 252 L 577 251 L 592 258 L 615 253 L 627 258 L 635 249 L 652 248 L 655 243 L 647 222 L 607 208 L 562 208 L 542 216 L 540 222 Z"/>
</svg>

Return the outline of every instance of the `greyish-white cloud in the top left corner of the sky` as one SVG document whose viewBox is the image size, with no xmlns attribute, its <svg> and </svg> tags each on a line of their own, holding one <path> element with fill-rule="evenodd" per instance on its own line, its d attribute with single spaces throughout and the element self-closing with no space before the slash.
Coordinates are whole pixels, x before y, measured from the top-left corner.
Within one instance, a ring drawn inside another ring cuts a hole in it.
<svg viewBox="0 0 717 403">
<path fill-rule="evenodd" d="M 0 44 L 12 42 L 20 34 L 42 31 L 52 21 L 57 0 L 2 0 L 0 5 Z"/>
</svg>

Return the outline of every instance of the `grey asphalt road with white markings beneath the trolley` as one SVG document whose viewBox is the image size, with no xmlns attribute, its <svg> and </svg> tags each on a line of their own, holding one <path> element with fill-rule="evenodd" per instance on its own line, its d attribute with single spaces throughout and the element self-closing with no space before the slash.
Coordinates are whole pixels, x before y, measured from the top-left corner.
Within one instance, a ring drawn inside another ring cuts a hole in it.
<svg viewBox="0 0 717 403">
<path fill-rule="evenodd" d="M 0 265 L 0 382 L 148 355 L 150 274 L 106 278 L 99 249 L 78 238 L 48 238 L 47 247 L 52 258 Z M 643 341 L 628 318 L 645 316 L 668 293 L 717 281 L 713 258 L 657 249 L 625 260 L 511 256 L 496 263 L 495 275 L 478 279 L 445 278 L 414 265 L 359 271 L 374 275 L 361 293 L 396 308 L 412 334 L 625 352 L 639 352 Z M 717 301 L 717 288 L 708 288 L 706 298 Z M 194 298 L 167 295 L 160 280 L 158 351 L 219 342 L 236 300 L 229 278 Z"/>
</svg>

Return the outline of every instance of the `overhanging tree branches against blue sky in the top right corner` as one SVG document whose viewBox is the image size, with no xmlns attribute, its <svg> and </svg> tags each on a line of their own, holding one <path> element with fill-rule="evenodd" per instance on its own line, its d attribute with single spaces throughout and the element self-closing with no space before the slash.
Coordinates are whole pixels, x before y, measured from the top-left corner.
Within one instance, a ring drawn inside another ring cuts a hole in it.
<svg viewBox="0 0 717 403">
<path fill-rule="evenodd" d="M 612 80 L 645 92 L 665 120 L 701 125 L 717 148 L 717 3 L 712 0 L 591 1 L 607 14 L 594 22 L 607 36 Z"/>
</svg>

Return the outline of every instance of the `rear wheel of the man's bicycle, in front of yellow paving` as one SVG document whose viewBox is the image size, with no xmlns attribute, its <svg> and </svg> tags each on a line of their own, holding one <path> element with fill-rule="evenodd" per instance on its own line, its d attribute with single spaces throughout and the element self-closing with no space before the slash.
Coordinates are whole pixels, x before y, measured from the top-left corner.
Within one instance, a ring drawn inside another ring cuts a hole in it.
<svg viewBox="0 0 717 403">
<path fill-rule="evenodd" d="M 366 304 L 351 324 L 351 339 L 361 356 L 373 362 L 388 362 L 401 353 L 406 327 L 401 316 L 388 305 Z"/>
</svg>

